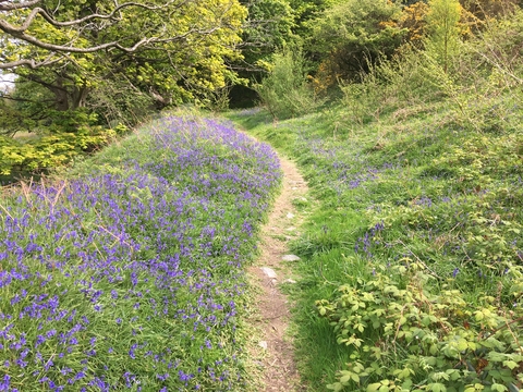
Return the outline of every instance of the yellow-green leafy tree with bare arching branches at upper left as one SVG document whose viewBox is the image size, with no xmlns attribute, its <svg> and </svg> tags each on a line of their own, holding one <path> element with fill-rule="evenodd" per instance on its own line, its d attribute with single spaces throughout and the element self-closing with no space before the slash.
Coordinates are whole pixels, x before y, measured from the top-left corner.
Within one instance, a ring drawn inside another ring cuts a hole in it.
<svg viewBox="0 0 523 392">
<path fill-rule="evenodd" d="M 61 111 L 108 81 L 157 107 L 205 100 L 234 78 L 236 0 L 0 0 L 0 69 L 46 87 Z"/>
</svg>

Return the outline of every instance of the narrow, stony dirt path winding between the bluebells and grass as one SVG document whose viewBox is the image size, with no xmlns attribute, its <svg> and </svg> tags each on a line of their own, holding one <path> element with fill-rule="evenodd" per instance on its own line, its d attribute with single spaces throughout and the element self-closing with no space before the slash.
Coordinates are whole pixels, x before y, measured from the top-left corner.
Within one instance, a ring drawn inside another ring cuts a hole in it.
<svg viewBox="0 0 523 392">
<path fill-rule="evenodd" d="M 290 304 L 279 290 L 281 284 L 294 284 L 290 264 L 283 257 L 290 255 L 288 242 L 299 235 L 303 213 L 293 200 L 305 203 L 307 186 L 296 166 L 280 157 L 283 187 L 275 201 L 268 222 L 262 228 L 260 256 L 248 269 L 257 287 L 257 311 L 250 322 L 259 331 L 253 342 L 252 354 L 260 370 L 260 392 L 297 392 L 300 377 L 293 357 L 292 336 L 287 329 Z"/>
</svg>

